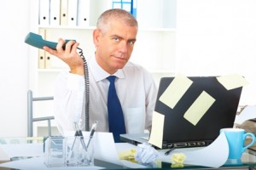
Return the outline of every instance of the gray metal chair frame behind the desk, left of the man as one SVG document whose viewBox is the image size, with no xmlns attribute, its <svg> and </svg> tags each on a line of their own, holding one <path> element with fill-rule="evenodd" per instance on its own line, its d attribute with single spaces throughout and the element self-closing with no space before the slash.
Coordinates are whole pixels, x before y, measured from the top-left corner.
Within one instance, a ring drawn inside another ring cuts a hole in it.
<svg viewBox="0 0 256 170">
<path fill-rule="evenodd" d="M 33 102 L 34 101 L 44 101 L 44 100 L 52 100 L 53 97 L 38 97 L 34 98 L 32 95 L 32 90 L 27 91 L 27 136 L 33 136 L 33 122 L 41 122 L 47 121 L 48 125 L 48 135 L 51 136 L 51 125 L 50 121 L 53 120 L 54 116 L 44 116 L 44 117 L 36 117 L 33 118 Z"/>
</svg>

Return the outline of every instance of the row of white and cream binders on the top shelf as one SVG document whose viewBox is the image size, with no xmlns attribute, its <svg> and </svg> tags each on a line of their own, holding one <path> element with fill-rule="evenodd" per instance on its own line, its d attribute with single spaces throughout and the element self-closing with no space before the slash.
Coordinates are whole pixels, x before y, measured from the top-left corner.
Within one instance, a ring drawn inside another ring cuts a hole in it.
<svg viewBox="0 0 256 170">
<path fill-rule="evenodd" d="M 90 0 L 38 0 L 40 26 L 89 26 Z"/>
</svg>

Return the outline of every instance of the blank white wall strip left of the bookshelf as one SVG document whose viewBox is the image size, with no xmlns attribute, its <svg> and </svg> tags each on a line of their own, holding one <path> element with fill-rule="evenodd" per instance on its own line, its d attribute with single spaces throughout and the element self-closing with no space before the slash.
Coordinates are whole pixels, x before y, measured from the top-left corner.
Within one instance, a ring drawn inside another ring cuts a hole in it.
<svg viewBox="0 0 256 170">
<path fill-rule="evenodd" d="M 29 0 L 0 5 L 0 137 L 26 136 Z"/>
</svg>

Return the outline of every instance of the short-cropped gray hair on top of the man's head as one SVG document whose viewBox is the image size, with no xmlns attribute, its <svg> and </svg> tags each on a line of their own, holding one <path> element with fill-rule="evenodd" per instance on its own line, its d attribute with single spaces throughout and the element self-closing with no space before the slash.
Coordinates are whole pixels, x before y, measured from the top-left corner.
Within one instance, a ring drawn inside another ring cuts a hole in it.
<svg viewBox="0 0 256 170">
<path fill-rule="evenodd" d="M 105 30 L 108 27 L 110 20 L 120 20 L 127 26 L 138 27 L 137 20 L 128 11 L 121 8 L 112 8 L 103 12 L 97 20 L 96 27 L 100 30 Z"/>
</svg>

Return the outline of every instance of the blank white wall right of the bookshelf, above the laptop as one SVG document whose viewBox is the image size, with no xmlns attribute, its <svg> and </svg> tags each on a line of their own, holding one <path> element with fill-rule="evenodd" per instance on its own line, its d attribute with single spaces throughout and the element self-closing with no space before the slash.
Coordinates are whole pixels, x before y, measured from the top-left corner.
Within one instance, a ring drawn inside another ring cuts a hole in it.
<svg viewBox="0 0 256 170">
<path fill-rule="evenodd" d="M 241 105 L 256 105 L 256 1 L 178 0 L 177 71 L 186 75 L 238 73 Z"/>
</svg>

